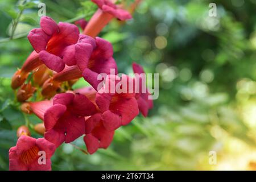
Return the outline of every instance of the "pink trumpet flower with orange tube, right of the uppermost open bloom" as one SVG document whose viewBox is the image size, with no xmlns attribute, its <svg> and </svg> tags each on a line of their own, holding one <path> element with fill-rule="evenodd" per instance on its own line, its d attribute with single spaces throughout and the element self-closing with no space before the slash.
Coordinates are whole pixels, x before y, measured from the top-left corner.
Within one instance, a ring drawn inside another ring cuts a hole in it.
<svg viewBox="0 0 256 182">
<path fill-rule="evenodd" d="M 114 74 L 117 74 L 117 64 L 112 57 L 112 44 L 104 39 L 98 37 L 93 39 L 88 35 L 80 35 L 79 41 L 75 45 L 75 51 L 71 52 L 69 56 L 71 58 L 66 63 L 74 66 L 66 66 L 63 71 L 56 73 L 44 82 L 42 89 L 44 97 L 51 98 L 54 96 L 63 81 L 74 80 L 83 76 L 97 89 L 101 82 L 101 80 L 97 80 L 100 73 L 108 75 L 113 69 Z"/>
</svg>

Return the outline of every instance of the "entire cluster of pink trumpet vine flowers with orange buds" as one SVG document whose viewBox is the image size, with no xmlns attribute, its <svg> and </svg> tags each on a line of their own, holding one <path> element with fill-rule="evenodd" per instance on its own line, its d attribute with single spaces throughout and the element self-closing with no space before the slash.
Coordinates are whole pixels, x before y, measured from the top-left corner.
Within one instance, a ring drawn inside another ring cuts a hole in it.
<svg viewBox="0 0 256 182">
<path fill-rule="evenodd" d="M 16 146 L 9 151 L 10 170 L 51 170 L 55 149 L 82 136 L 89 154 L 108 148 L 115 130 L 140 112 L 146 117 L 153 106 L 148 90 L 142 92 L 146 87 L 142 77 L 118 75 L 112 44 L 97 37 L 111 19 L 127 20 L 130 13 L 109 0 L 93 2 L 98 10 L 89 22 L 75 22 L 82 34 L 75 24 L 56 23 L 48 16 L 42 16 L 40 28 L 28 34 L 34 51 L 14 74 L 11 86 L 18 89 L 21 110 L 42 119 L 34 130 L 43 138 L 32 138 L 28 127 L 20 126 Z M 133 70 L 144 73 L 136 63 Z M 91 86 L 72 90 L 79 78 Z M 139 84 L 127 86 L 129 81 Z M 114 92 L 111 85 L 117 88 Z M 37 100 L 32 100 L 35 92 Z"/>
</svg>

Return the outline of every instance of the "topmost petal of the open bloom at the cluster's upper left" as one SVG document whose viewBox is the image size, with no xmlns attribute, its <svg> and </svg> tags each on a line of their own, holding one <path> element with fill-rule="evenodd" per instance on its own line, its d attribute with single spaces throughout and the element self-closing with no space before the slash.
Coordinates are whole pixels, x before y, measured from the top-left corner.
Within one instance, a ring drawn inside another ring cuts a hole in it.
<svg viewBox="0 0 256 182">
<path fill-rule="evenodd" d="M 57 23 L 48 16 L 42 16 L 40 19 L 40 27 L 46 34 L 53 35 L 59 30 Z"/>
</svg>

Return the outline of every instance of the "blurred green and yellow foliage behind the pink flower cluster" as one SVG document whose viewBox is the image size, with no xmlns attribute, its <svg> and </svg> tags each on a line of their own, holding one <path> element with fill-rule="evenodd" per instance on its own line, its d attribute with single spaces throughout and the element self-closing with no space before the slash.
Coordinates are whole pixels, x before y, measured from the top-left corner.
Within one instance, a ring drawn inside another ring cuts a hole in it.
<svg viewBox="0 0 256 182">
<path fill-rule="evenodd" d="M 18 126 L 40 122 L 19 110 L 10 87 L 32 51 L 26 35 L 39 27 L 39 1 L 21 2 L 0 1 L 1 170 L 9 169 Z M 97 9 L 84 0 L 41 2 L 56 22 L 89 20 Z M 208 15 L 212 2 L 216 17 Z M 116 131 L 108 150 L 85 155 L 63 144 L 53 170 L 256 170 L 255 7 L 256 0 L 144 0 L 132 20 L 111 22 L 100 36 L 113 43 L 119 72 L 132 73 L 136 61 L 159 73 L 159 98 L 147 118 Z M 82 138 L 73 144 L 85 149 Z M 209 163 L 210 151 L 216 164 Z"/>
</svg>

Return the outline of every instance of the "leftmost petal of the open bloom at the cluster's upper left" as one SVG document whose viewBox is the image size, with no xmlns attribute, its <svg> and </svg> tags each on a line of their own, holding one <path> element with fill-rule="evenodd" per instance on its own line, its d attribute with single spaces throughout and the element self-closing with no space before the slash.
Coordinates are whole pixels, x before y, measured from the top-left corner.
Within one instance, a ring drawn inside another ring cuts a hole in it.
<svg viewBox="0 0 256 182">
<path fill-rule="evenodd" d="M 46 49 L 50 36 L 47 35 L 42 28 L 34 28 L 30 31 L 27 38 L 30 41 L 31 46 L 39 53 Z"/>
</svg>

